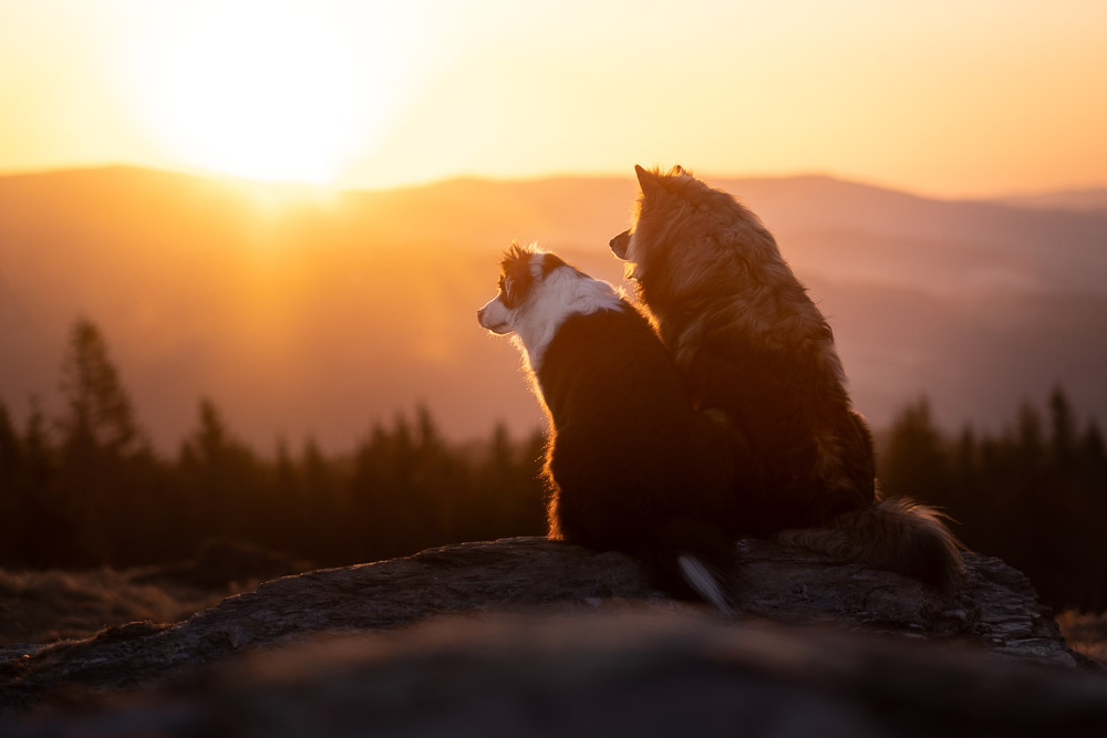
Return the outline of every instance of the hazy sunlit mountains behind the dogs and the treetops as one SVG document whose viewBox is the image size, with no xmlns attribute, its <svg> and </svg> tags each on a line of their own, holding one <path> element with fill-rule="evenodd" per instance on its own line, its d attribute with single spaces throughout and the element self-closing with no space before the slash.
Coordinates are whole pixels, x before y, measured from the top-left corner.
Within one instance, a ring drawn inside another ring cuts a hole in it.
<svg viewBox="0 0 1107 738">
<path fill-rule="evenodd" d="M 948 202 L 826 177 L 710 179 L 749 205 L 830 318 L 859 408 L 930 396 L 995 427 L 1062 384 L 1107 419 L 1107 219 Z M 618 282 L 632 178 L 451 180 L 333 196 L 135 168 L 0 177 L 0 399 L 56 412 L 77 315 L 174 449 L 210 397 L 260 448 L 351 448 L 425 403 L 454 437 L 541 416 L 485 334 L 513 240 Z"/>
</svg>

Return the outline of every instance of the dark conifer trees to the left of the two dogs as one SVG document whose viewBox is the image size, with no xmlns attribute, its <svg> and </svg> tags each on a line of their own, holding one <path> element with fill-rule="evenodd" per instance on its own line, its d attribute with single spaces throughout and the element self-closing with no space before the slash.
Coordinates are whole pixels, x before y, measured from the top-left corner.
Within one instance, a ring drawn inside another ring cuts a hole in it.
<svg viewBox="0 0 1107 738">
<path fill-rule="evenodd" d="M 539 433 L 513 439 L 496 427 L 487 443 L 459 447 L 416 408 L 374 425 L 351 455 L 328 457 L 308 440 L 263 458 L 205 399 L 166 458 L 86 320 L 70 334 L 60 387 L 62 415 L 32 407 L 22 427 L 0 403 L 3 565 L 175 561 L 213 538 L 338 565 L 546 530 Z"/>
</svg>

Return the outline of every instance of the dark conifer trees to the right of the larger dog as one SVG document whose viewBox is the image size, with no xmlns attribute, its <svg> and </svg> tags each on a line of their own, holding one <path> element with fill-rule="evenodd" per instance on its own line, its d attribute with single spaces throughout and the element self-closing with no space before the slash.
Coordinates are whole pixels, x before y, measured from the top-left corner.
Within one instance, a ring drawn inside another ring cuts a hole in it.
<svg viewBox="0 0 1107 738">
<path fill-rule="evenodd" d="M 943 434 L 925 398 L 880 439 L 889 495 L 944 508 L 971 549 L 1023 571 L 1058 609 L 1107 610 L 1107 451 L 1064 391 L 1023 402 L 1002 432 Z"/>
</svg>

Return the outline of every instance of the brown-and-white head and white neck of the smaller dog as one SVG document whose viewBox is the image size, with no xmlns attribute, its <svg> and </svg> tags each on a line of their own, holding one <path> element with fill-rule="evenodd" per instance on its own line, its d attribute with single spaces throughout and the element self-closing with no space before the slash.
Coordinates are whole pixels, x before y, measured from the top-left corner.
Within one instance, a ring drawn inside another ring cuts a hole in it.
<svg viewBox="0 0 1107 738">
<path fill-rule="evenodd" d="M 515 333 L 537 368 L 566 318 L 622 306 L 622 298 L 607 282 L 570 267 L 556 253 L 513 243 L 500 262 L 499 292 L 477 311 L 477 321 L 497 335 Z"/>
</svg>

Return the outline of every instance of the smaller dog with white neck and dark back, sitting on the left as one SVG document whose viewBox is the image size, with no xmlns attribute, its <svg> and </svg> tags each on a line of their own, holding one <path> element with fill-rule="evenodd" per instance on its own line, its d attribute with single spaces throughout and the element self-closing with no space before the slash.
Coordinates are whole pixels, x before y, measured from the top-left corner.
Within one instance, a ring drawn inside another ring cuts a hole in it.
<svg viewBox="0 0 1107 738">
<path fill-rule="evenodd" d="M 513 245 L 480 325 L 515 333 L 549 419 L 550 537 L 639 557 L 723 611 L 736 519 L 726 429 L 692 410 L 653 326 L 610 284 Z M 682 588 L 681 588 L 682 589 Z"/>
</svg>

